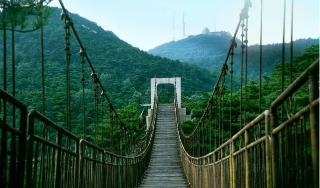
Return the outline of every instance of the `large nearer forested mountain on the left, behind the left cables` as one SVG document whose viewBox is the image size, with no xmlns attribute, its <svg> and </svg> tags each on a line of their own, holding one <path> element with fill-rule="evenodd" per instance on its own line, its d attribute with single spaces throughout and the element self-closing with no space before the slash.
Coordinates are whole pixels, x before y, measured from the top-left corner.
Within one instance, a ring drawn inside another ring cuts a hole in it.
<svg viewBox="0 0 320 188">
<path fill-rule="evenodd" d="M 51 8 L 44 35 L 44 84 L 46 115 L 59 125 L 65 126 L 66 114 L 66 52 L 64 20 L 60 8 Z M 197 65 L 181 63 L 153 56 L 119 39 L 113 32 L 106 31 L 95 22 L 69 13 L 96 73 L 116 108 L 137 102 L 140 94 L 150 93 L 150 78 L 181 77 L 183 95 L 211 91 L 213 80 L 207 69 Z M 12 61 L 11 31 L 7 36 L 7 91 L 11 93 Z M 82 84 L 80 47 L 74 34 L 70 36 L 70 95 L 71 124 L 80 129 L 82 121 Z M 15 47 L 15 96 L 29 109 L 41 107 L 41 51 L 40 31 L 14 32 Z M 0 37 L 0 85 L 3 88 L 3 34 Z M 84 69 L 86 125 L 93 126 L 93 82 L 87 63 Z M 100 97 L 101 91 L 98 91 Z M 101 100 L 99 100 L 100 106 Z M 105 104 L 106 105 L 106 104 Z M 99 107 L 100 108 L 100 107 Z M 7 110 L 10 121 L 10 109 Z M 17 113 L 18 114 L 18 113 Z M 91 126 L 91 128 L 90 128 Z"/>
</svg>

